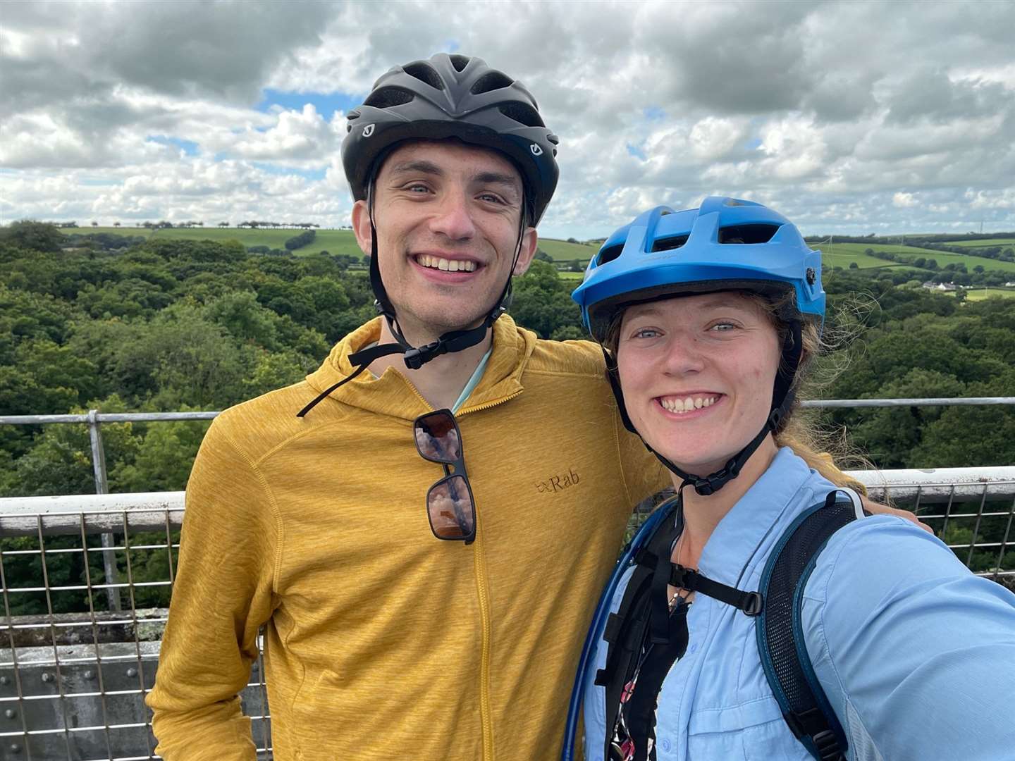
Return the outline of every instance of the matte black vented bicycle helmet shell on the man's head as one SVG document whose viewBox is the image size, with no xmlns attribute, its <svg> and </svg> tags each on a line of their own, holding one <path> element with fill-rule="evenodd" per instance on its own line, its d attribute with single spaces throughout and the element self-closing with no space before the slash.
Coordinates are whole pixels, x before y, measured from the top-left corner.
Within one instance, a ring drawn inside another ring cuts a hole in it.
<svg viewBox="0 0 1015 761">
<path fill-rule="evenodd" d="M 348 114 L 342 164 L 352 195 L 365 200 L 378 159 L 403 140 L 458 138 L 507 155 L 525 184 L 530 224 L 557 187 L 559 139 L 532 93 L 481 58 L 437 53 L 395 66 Z"/>
</svg>

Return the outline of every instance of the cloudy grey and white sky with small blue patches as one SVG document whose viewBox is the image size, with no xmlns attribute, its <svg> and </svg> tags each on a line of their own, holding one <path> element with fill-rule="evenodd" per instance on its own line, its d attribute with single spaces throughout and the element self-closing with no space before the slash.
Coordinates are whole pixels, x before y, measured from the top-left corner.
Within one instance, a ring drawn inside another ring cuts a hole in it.
<svg viewBox="0 0 1015 761">
<path fill-rule="evenodd" d="M 349 223 L 345 115 L 479 56 L 560 137 L 550 237 L 760 201 L 805 234 L 1015 230 L 1015 2 L 0 1 L 0 222 Z"/>
</svg>

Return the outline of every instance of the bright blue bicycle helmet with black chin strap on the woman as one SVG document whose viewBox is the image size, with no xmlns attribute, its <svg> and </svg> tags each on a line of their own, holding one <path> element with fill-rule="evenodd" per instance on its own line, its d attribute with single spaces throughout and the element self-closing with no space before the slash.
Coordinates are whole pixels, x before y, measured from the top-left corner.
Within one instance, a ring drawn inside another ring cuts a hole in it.
<svg viewBox="0 0 1015 761">
<path fill-rule="evenodd" d="M 589 262 L 582 284 L 571 297 L 582 320 L 602 344 L 614 317 L 632 303 L 682 293 L 742 290 L 780 297 L 795 293 L 780 317 L 790 330 L 783 345 L 772 392 L 771 412 L 761 432 L 726 466 L 708 476 L 688 474 L 656 453 L 685 484 L 712 494 L 740 469 L 769 432 L 780 429 L 793 404 L 793 385 L 800 364 L 802 322 L 821 323 L 825 293 L 821 288 L 821 253 L 808 248 L 796 226 L 782 214 L 753 201 L 708 197 L 700 208 L 675 211 L 657 206 L 610 235 Z M 607 374 L 624 425 L 637 433 L 627 416 L 616 362 L 604 347 Z"/>
</svg>

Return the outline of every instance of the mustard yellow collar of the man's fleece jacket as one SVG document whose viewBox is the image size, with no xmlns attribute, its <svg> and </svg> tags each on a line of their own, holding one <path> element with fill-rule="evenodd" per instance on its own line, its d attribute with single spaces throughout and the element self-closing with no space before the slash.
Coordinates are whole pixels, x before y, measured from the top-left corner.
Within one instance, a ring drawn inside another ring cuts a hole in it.
<svg viewBox="0 0 1015 761">
<path fill-rule="evenodd" d="M 475 407 L 495 404 L 523 391 L 522 373 L 536 345 L 535 336 L 515 325 L 507 315 L 493 324 L 493 352 L 486 362 L 486 369 L 476 388 L 469 395 L 460 412 Z M 307 376 L 310 387 L 320 394 L 355 367 L 349 355 L 381 338 L 381 318 L 360 326 L 335 344 L 321 366 Z M 329 400 L 342 402 L 369 412 L 414 420 L 431 411 L 408 377 L 389 367 L 380 377 L 363 372 L 329 395 Z M 322 402 L 323 407 L 327 401 Z M 314 413 L 312 412 L 311 415 Z"/>
</svg>

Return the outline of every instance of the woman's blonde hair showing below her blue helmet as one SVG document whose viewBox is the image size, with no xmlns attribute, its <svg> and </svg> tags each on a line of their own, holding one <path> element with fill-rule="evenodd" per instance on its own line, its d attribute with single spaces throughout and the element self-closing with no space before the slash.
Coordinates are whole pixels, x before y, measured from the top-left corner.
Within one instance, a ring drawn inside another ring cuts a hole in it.
<svg viewBox="0 0 1015 761">
<path fill-rule="evenodd" d="M 790 324 L 787 316 L 797 314 L 796 291 L 788 290 L 775 298 L 766 297 L 753 291 L 738 291 L 753 300 L 771 321 L 772 327 L 779 333 L 781 344 L 785 344 L 790 335 Z M 603 340 L 613 361 L 616 361 L 617 345 L 620 339 L 620 324 L 624 309 L 618 309 L 610 320 L 609 328 Z M 787 410 L 779 427 L 772 432 L 772 438 L 777 446 L 789 446 L 812 470 L 836 486 L 845 486 L 861 494 L 867 494 L 867 487 L 859 481 L 845 475 L 837 466 L 854 465 L 860 468 L 870 468 L 867 459 L 855 449 L 849 442 L 844 430 L 822 429 L 817 415 L 809 410 L 801 409 L 803 399 L 822 386 L 827 386 L 833 377 L 844 369 L 844 361 L 832 363 L 825 367 L 826 377 L 819 378 L 814 372 L 817 359 L 828 353 L 828 343 L 822 341 L 821 322 L 813 316 L 805 316 L 800 327 L 801 351 L 800 363 L 793 378 L 793 405 Z M 782 361 L 782 360 L 781 360 Z"/>
</svg>

